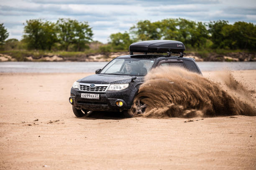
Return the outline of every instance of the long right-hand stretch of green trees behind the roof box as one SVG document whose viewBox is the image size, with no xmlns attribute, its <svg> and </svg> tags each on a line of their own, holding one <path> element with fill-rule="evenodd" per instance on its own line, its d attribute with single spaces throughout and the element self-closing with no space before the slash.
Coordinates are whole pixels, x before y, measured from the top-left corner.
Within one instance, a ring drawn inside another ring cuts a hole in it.
<svg viewBox="0 0 256 170">
<path fill-rule="evenodd" d="M 179 19 L 151 22 L 139 21 L 128 32 L 110 35 L 111 45 L 117 50 L 128 49 L 131 42 L 144 40 L 177 40 L 189 49 L 256 49 L 256 25 L 253 23 L 218 20 L 208 23 Z"/>
</svg>

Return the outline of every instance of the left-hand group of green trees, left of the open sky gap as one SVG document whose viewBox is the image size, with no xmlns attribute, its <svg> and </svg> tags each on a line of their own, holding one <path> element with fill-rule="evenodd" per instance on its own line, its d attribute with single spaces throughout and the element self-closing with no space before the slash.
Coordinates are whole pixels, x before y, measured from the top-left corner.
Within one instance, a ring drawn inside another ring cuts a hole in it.
<svg viewBox="0 0 256 170">
<path fill-rule="evenodd" d="M 3 24 L 0 32 L 1 30 L 6 39 L 8 33 L 3 28 Z M 93 35 L 92 28 L 87 22 L 78 22 L 69 18 L 60 18 L 56 23 L 41 19 L 27 20 L 23 32 L 21 41 L 29 50 L 52 50 L 54 46 L 57 50 L 68 51 L 71 48 L 72 51 L 82 51 L 89 48 L 88 44 L 92 41 Z M 2 44 L 4 38 L 2 41 L 0 39 Z M 15 45 L 18 40 L 10 39 L 6 42 Z"/>
</svg>

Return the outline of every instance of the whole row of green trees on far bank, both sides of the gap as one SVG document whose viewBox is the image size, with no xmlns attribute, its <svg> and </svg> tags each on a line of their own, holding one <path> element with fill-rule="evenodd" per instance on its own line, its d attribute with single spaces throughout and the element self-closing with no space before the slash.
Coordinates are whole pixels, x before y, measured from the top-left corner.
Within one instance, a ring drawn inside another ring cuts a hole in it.
<svg viewBox="0 0 256 170">
<path fill-rule="evenodd" d="M 21 40 L 27 49 L 84 51 L 92 42 L 92 28 L 87 22 L 60 18 L 56 23 L 47 20 L 27 20 Z M 9 39 L 8 32 L 0 24 L 0 45 L 15 46 L 18 40 Z M 111 34 L 108 44 L 102 45 L 103 52 L 128 50 L 131 43 L 144 40 L 178 40 L 188 49 L 256 49 L 256 25 L 247 22 L 233 24 L 225 20 L 208 23 L 192 20 L 164 19 L 151 22 L 142 20 L 124 33 Z"/>
</svg>

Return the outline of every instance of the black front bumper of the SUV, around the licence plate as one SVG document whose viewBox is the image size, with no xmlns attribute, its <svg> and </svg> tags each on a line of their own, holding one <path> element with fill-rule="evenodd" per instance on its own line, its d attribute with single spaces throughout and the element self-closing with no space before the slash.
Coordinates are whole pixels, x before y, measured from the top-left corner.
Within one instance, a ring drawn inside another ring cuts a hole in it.
<svg viewBox="0 0 256 170">
<path fill-rule="evenodd" d="M 100 99 L 86 99 L 81 97 L 81 93 L 96 93 L 100 95 Z M 134 95 L 136 91 L 127 88 L 120 91 L 106 91 L 106 92 L 84 92 L 79 89 L 71 88 L 70 97 L 71 103 L 77 109 L 95 110 L 95 111 L 122 111 L 131 109 Z M 120 100 L 123 106 L 117 106 L 115 102 Z"/>
</svg>

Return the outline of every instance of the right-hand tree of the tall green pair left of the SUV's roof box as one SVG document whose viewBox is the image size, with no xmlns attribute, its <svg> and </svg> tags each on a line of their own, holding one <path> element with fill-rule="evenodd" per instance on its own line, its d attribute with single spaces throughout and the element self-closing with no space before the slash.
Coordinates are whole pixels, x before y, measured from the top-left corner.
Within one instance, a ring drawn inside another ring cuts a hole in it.
<svg viewBox="0 0 256 170">
<path fill-rule="evenodd" d="M 87 22 L 78 22 L 69 18 L 60 18 L 57 21 L 59 43 L 64 50 L 69 49 L 69 45 L 74 45 L 76 50 L 81 51 L 88 47 L 92 40 L 92 28 Z"/>
</svg>

